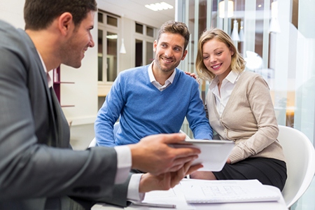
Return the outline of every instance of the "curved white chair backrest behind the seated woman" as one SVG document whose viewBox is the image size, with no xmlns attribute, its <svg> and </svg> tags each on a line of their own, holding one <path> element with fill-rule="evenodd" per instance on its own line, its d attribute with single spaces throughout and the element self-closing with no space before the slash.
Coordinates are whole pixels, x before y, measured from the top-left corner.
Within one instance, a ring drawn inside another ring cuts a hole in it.
<svg viewBox="0 0 315 210">
<path fill-rule="evenodd" d="M 290 208 L 311 184 L 315 173 L 315 151 L 307 136 L 292 127 L 279 125 L 278 140 L 286 156 L 288 174 L 281 193 Z"/>
</svg>

